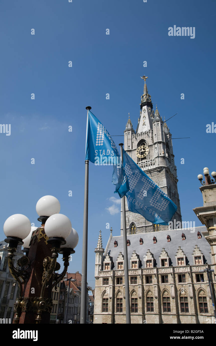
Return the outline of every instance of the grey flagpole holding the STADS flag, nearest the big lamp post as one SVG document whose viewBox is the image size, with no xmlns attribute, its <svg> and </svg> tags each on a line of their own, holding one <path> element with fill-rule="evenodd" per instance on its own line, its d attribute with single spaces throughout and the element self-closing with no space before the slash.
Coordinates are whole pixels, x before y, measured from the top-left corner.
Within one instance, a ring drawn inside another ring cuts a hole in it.
<svg viewBox="0 0 216 346">
<path fill-rule="evenodd" d="M 86 142 L 87 142 L 87 126 L 88 126 L 88 110 L 86 124 Z M 85 161 L 85 192 L 84 192 L 84 214 L 83 214 L 83 261 L 82 261 L 82 284 L 81 284 L 81 306 L 80 306 L 80 324 L 86 324 L 87 310 L 87 249 L 88 249 L 88 163 Z"/>
</svg>

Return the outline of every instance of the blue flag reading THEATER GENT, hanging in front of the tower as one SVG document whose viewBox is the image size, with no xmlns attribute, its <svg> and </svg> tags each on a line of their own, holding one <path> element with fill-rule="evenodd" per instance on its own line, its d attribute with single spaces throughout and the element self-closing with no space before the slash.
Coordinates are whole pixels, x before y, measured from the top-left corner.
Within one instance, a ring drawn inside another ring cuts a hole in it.
<svg viewBox="0 0 216 346">
<path fill-rule="evenodd" d="M 123 166 L 126 176 L 119 189 L 121 197 L 129 182 L 130 190 L 126 193 L 128 209 L 145 217 L 153 224 L 168 225 L 177 206 L 157 186 L 146 173 L 144 173 L 132 158 L 123 149 Z"/>
</svg>

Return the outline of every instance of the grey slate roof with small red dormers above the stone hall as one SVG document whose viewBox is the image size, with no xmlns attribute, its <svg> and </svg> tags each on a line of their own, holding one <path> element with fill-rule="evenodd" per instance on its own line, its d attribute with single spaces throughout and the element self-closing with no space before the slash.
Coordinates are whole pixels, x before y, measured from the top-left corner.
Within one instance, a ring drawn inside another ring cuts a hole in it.
<svg viewBox="0 0 216 346">
<path fill-rule="evenodd" d="M 197 232 L 201 233 L 201 239 L 198 239 Z M 176 252 L 181 246 L 185 256 L 187 257 L 188 262 L 187 265 L 193 265 L 193 250 L 195 245 L 201 250 L 204 255 L 204 264 L 211 264 L 211 249 L 210 245 L 202 235 L 202 232 L 206 231 L 205 226 L 195 227 L 195 232 L 191 233 L 190 229 L 173 229 L 173 230 L 165 230 L 158 232 L 148 232 L 148 233 L 139 233 L 139 234 L 130 234 L 127 235 L 127 239 L 130 240 L 130 246 L 127 246 L 128 249 L 128 267 L 130 268 L 130 258 L 132 256 L 133 251 L 139 255 L 140 258 L 140 268 L 145 268 L 144 256 L 148 249 L 153 254 L 156 263 L 156 267 L 160 267 L 159 256 L 164 248 L 168 253 L 171 259 L 171 265 L 176 266 Z M 182 240 L 182 233 L 185 234 L 186 239 Z M 171 242 L 167 242 L 167 235 L 170 235 Z M 157 243 L 153 243 L 153 237 L 156 237 Z M 143 245 L 140 245 L 139 240 L 143 239 Z M 118 246 L 114 247 L 114 241 L 118 242 Z M 107 249 L 107 253 L 113 258 L 114 265 L 111 269 L 117 270 L 116 261 L 119 256 L 119 253 L 124 254 L 123 247 L 123 236 L 113 236 L 110 242 L 110 245 Z M 104 256 L 106 254 L 104 253 Z"/>
</svg>

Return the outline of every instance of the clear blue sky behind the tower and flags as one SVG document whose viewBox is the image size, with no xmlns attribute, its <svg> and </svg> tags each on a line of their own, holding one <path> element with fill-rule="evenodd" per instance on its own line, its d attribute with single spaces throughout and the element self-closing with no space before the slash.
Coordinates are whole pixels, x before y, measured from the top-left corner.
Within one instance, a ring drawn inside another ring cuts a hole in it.
<svg viewBox="0 0 216 346">
<path fill-rule="evenodd" d="M 178 112 L 167 122 L 172 137 L 191 137 L 174 139 L 173 151 L 182 220 L 199 226 L 192 210 L 202 205 L 197 175 L 206 166 L 216 170 L 216 134 L 206 133 L 207 124 L 216 124 L 215 1 L 204 6 L 200 0 L 2 0 L 0 6 L 0 123 L 11 124 L 10 136 L 0 133 L 0 238 L 5 220 L 15 213 L 39 226 L 36 202 L 54 195 L 79 234 L 69 271 L 81 272 L 85 107 L 92 107 L 111 135 L 123 134 L 128 112 L 136 129 L 144 74 L 154 109 L 157 103 L 166 119 Z M 168 36 L 174 25 L 195 27 L 195 38 Z M 114 141 L 118 146 L 122 137 Z M 110 213 L 120 210 L 111 177 L 111 167 L 89 164 L 92 287 L 100 229 L 104 247 L 107 222 L 113 235 L 120 235 L 120 212 Z"/>
</svg>

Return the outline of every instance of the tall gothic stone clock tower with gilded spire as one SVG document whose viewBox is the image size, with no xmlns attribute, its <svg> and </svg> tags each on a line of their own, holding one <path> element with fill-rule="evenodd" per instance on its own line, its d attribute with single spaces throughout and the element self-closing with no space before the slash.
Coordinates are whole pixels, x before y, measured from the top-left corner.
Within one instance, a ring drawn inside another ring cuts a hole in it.
<svg viewBox="0 0 216 346">
<path fill-rule="evenodd" d="M 177 188 L 177 171 L 174 163 L 172 135 L 162 120 L 156 106 L 154 112 L 151 96 L 148 93 L 146 79 L 144 79 L 144 91 L 141 96 L 140 117 L 136 132 L 130 120 L 124 130 L 124 150 L 137 163 L 137 165 L 161 188 L 178 207 L 172 217 L 182 221 L 180 201 Z M 127 234 L 145 233 L 166 230 L 167 226 L 155 225 L 147 221 L 143 216 L 132 213 L 127 207 L 126 200 L 126 227 Z M 122 208 L 121 208 L 121 235 L 123 234 Z"/>
</svg>

